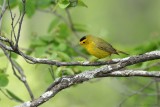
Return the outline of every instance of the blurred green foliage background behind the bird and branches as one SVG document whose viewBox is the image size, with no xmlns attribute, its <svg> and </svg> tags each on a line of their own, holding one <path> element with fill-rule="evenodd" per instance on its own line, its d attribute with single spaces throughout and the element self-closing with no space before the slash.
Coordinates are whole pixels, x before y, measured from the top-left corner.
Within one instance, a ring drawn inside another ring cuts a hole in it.
<svg viewBox="0 0 160 107">
<path fill-rule="evenodd" d="M 56 13 L 60 15 L 57 17 L 52 13 L 54 6 L 50 6 L 51 11 L 45 6 L 33 11 L 32 5 L 28 5 L 28 10 L 31 8 L 32 10 L 27 13 L 23 21 L 20 49 L 33 57 L 68 62 L 86 61 L 93 58 L 79 46 L 79 39 L 86 34 L 101 37 L 130 55 L 160 48 L 159 0 L 83 0 L 83 2 L 87 7 L 68 8 L 72 23 L 63 8 L 56 8 Z M 13 6 L 12 12 L 18 18 L 19 7 Z M 10 24 L 10 13 L 7 10 L 2 23 L 2 31 L 5 35 L 10 35 Z M 71 24 L 76 31 L 69 28 Z M 112 58 L 119 57 L 126 56 L 112 56 Z M 61 71 L 65 72 L 64 75 L 72 75 L 96 68 L 28 64 L 22 57 L 16 55 L 14 59 L 23 68 L 35 98 L 38 98 L 55 78 L 62 75 Z M 24 101 L 30 100 L 23 83 L 14 76 L 7 58 L 1 56 L 0 60 L 3 61 L 0 68 L 6 69 L 9 79 L 8 85 L 1 89 L 10 90 Z M 157 63 L 158 60 L 146 62 L 131 66 L 129 69 L 159 70 Z M 157 65 L 147 68 L 152 64 Z M 51 76 L 50 71 L 54 76 Z M 2 107 L 19 104 L 0 92 Z M 67 88 L 40 107 L 159 107 L 159 104 L 157 79 L 107 77 Z"/>
</svg>

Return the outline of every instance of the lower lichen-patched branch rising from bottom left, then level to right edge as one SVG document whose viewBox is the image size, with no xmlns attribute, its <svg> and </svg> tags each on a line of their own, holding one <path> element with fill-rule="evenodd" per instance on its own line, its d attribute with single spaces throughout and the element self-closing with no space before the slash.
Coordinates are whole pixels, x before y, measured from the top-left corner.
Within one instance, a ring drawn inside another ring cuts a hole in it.
<svg viewBox="0 0 160 107">
<path fill-rule="evenodd" d="M 99 71 L 99 69 L 102 69 L 102 68 L 104 68 L 104 69 Z M 93 78 L 108 77 L 108 76 L 113 76 L 113 77 L 130 77 L 130 76 L 160 77 L 160 72 L 158 72 L 158 71 L 148 72 L 148 71 L 141 71 L 141 70 L 115 71 L 115 72 L 104 74 L 104 75 L 102 75 L 102 74 L 98 75 L 99 72 L 106 72 L 105 68 L 106 68 L 106 66 L 103 66 L 101 68 L 98 68 L 98 69 L 95 69 L 92 71 L 82 72 L 82 73 L 74 75 L 74 76 L 59 78 L 38 99 L 36 99 L 34 101 L 25 102 L 25 103 L 23 103 L 19 106 L 16 106 L 16 107 L 36 107 L 36 106 L 41 105 L 42 103 L 48 101 L 50 98 L 54 97 L 59 91 L 65 89 L 67 87 L 70 87 L 72 85 L 79 84 L 84 81 L 88 81 Z"/>
</svg>

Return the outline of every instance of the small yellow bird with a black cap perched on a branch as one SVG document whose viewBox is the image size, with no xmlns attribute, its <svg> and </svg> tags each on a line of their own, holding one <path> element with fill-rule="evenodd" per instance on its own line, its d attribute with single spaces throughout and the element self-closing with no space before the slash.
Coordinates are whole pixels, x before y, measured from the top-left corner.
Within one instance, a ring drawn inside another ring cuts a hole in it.
<svg viewBox="0 0 160 107">
<path fill-rule="evenodd" d="M 103 39 L 92 35 L 82 37 L 79 44 L 82 45 L 91 55 L 97 58 L 105 58 L 112 54 L 119 55 L 119 53 L 128 55 L 123 51 L 116 50 L 111 44 Z"/>
</svg>

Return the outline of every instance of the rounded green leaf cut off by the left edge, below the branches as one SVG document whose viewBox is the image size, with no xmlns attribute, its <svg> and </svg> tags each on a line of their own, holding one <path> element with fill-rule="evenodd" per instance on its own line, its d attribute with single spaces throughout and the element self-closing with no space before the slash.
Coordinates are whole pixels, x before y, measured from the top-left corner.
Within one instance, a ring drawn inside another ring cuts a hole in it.
<svg viewBox="0 0 160 107">
<path fill-rule="evenodd" d="M 8 75 L 0 73 L 0 87 L 5 87 L 9 83 Z"/>
</svg>

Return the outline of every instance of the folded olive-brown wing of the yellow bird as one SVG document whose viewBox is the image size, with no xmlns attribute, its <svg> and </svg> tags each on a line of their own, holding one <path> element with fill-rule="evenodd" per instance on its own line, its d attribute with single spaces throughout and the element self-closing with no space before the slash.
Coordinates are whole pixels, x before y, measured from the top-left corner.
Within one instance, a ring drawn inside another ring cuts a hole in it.
<svg viewBox="0 0 160 107">
<path fill-rule="evenodd" d="M 108 42 L 104 41 L 103 39 L 101 38 L 97 38 L 95 40 L 95 44 L 97 44 L 97 48 L 101 49 L 101 50 L 104 50 L 106 52 L 109 52 L 111 54 L 118 54 L 116 49 L 113 48 L 113 46 L 111 44 L 109 44 Z"/>
</svg>

